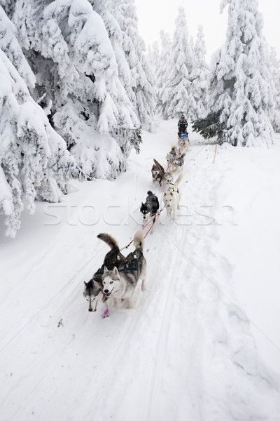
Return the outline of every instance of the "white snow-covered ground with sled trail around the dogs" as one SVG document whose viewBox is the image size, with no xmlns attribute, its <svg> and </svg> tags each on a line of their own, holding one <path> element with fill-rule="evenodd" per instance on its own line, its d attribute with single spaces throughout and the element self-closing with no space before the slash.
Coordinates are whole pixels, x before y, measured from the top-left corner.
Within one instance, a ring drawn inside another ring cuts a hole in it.
<svg viewBox="0 0 280 421">
<path fill-rule="evenodd" d="M 96 236 L 130 242 L 175 134 L 161 122 L 117 180 L 37 203 L 15 240 L 0 225 L 1 420 L 279 421 L 279 138 L 213 163 L 191 134 L 179 219 L 162 212 L 146 237 L 146 291 L 87 312 L 83 281 L 109 250 Z"/>
</svg>

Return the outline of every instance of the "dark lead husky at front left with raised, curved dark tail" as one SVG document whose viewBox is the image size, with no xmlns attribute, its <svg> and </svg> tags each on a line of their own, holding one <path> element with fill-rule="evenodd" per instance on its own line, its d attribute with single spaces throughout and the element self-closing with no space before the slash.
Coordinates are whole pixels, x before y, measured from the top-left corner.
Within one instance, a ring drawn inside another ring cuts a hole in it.
<svg viewBox="0 0 280 421">
<path fill-rule="evenodd" d="M 96 312 L 97 304 L 103 300 L 105 305 L 103 316 L 106 316 L 108 313 L 108 307 L 102 292 L 102 275 L 104 274 L 104 267 L 109 269 L 113 269 L 113 267 L 119 267 L 120 263 L 125 260 L 125 256 L 120 253 L 118 242 L 111 235 L 101 233 L 97 235 L 97 238 L 108 244 L 111 250 L 106 254 L 102 267 L 99 267 L 97 272 L 95 272 L 92 276 L 92 279 L 90 279 L 88 282 L 84 282 L 83 295 L 89 302 L 89 312 Z"/>
</svg>

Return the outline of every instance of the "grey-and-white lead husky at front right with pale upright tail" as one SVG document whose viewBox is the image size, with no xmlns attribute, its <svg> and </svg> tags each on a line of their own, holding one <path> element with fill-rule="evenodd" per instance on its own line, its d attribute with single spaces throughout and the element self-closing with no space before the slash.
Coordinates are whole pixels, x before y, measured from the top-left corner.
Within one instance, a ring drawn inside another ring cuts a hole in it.
<svg viewBox="0 0 280 421">
<path fill-rule="evenodd" d="M 134 235 L 133 243 L 135 250 L 130 255 L 134 257 L 135 266 L 130 269 L 114 267 L 113 270 L 105 267 L 102 275 L 103 292 L 106 298 L 115 300 L 118 307 L 122 307 L 126 301 L 130 309 L 134 308 L 134 290 L 138 279 L 142 279 L 142 291 L 146 288 L 146 259 L 143 255 L 144 236 L 142 230 L 137 231 Z"/>
</svg>

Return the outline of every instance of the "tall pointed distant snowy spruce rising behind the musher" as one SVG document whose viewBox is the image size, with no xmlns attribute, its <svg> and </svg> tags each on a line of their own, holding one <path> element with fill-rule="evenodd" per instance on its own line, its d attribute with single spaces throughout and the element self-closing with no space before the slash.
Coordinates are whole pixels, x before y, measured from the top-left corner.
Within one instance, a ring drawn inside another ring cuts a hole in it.
<svg viewBox="0 0 280 421">
<path fill-rule="evenodd" d="M 193 56 L 188 41 L 186 13 L 182 6 L 175 20 L 175 32 L 172 42 L 172 53 L 169 62 L 169 75 L 163 86 L 165 102 L 169 106 L 164 114 L 165 119 L 185 114 L 186 119 L 195 119 L 195 100 L 190 92 L 190 72 L 193 70 Z M 169 97 L 169 98 L 167 98 Z"/>
</svg>

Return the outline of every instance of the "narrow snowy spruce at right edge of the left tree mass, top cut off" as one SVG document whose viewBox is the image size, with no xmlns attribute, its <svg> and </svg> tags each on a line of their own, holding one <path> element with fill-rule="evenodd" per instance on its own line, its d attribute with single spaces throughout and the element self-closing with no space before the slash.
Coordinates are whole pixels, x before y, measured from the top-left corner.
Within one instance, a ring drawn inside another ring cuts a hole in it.
<svg viewBox="0 0 280 421">
<path fill-rule="evenodd" d="M 130 98 L 144 130 L 154 132 L 155 91 L 153 73 L 146 59 L 146 46 L 139 36 L 134 0 L 114 0 L 116 19 L 123 31 L 123 50 L 130 67 L 133 95 Z M 118 10 L 117 10 L 118 9 Z"/>
</svg>

